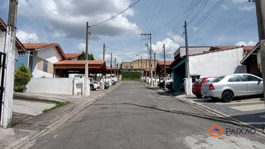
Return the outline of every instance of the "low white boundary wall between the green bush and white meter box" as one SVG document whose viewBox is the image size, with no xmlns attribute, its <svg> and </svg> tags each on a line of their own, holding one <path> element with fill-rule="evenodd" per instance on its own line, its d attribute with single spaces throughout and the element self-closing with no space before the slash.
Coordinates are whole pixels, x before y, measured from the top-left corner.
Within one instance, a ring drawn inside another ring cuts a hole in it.
<svg viewBox="0 0 265 149">
<path fill-rule="evenodd" d="M 74 78 L 31 78 L 27 93 L 73 94 Z"/>
</svg>

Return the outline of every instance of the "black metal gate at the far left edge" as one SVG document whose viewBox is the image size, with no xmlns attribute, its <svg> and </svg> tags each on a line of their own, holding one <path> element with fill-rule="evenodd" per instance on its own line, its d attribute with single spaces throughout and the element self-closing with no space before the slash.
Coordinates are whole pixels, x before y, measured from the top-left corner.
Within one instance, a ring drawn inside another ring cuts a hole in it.
<svg viewBox="0 0 265 149">
<path fill-rule="evenodd" d="M 5 53 L 0 52 L 0 121 L 1 121 L 1 112 L 2 112 L 2 102 L 3 102 L 3 93 L 5 90 L 4 80 L 5 80 Z"/>
</svg>

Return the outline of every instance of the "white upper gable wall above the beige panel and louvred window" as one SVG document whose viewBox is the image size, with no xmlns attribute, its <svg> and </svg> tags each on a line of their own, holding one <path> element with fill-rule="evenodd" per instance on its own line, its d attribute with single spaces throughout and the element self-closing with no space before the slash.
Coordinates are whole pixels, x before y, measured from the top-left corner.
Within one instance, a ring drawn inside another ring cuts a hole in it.
<svg viewBox="0 0 265 149">
<path fill-rule="evenodd" d="M 55 47 L 49 47 L 38 50 L 37 56 L 51 63 L 55 63 L 62 60 L 62 57 L 58 54 L 58 51 Z"/>
</svg>

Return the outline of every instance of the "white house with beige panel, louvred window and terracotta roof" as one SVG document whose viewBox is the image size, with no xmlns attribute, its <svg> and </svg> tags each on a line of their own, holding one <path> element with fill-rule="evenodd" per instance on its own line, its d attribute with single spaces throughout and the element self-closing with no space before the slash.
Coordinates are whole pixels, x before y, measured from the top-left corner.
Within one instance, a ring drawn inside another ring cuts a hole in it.
<svg viewBox="0 0 265 149">
<path fill-rule="evenodd" d="M 46 76 L 53 77 L 53 64 L 67 60 L 61 46 L 58 43 L 23 44 L 28 51 L 28 67 L 34 78 Z M 59 76 L 55 76 L 59 77 Z"/>
</svg>

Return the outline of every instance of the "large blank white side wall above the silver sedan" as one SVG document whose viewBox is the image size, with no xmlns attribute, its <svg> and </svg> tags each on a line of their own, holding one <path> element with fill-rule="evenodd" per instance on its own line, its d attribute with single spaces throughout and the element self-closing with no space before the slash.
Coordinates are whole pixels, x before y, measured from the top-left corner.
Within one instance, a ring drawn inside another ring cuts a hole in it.
<svg viewBox="0 0 265 149">
<path fill-rule="evenodd" d="M 233 74 L 242 66 L 243 48 L 215 51 L 189 56 L 190 74 L 200 74 L 201 78 Z"/>
</svg>

